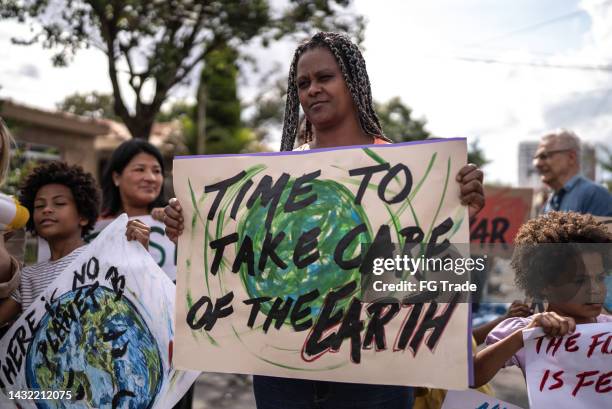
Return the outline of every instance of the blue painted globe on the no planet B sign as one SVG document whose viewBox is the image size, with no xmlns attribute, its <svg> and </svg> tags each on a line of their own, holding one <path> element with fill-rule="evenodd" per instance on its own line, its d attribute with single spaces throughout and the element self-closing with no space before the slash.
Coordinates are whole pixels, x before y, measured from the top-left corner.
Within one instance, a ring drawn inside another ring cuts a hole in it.
<svg viewBox="0 0 612 409">
<path fill-rule="evenodd" d="M 134 305 L 115 297 L 105 287 L 83 287 L 62 295 L 53 316 L 42 318 L 27 351 L 28 388 L 70 390 L 72 399 L 40 400 L 38 408 L 153 406 L 163 377 L 159 348 Z M 61 320 L 67 331 L 54 322 L 62 316 L 72 316 Z"/>
</svg>

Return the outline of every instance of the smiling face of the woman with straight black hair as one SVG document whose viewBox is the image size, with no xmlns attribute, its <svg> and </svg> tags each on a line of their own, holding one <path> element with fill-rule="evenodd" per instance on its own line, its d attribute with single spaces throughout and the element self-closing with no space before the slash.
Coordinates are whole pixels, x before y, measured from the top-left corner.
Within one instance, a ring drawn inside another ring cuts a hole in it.
<svg viewBox="0 0 612 409">
<path fill-rule="evenodd" d="M 163 183 L 162 168 L 155 156 L 141 152 L 123 169 L 113 173 L 123 207 L 147 207 L 157 199 Z"/>
</svg>

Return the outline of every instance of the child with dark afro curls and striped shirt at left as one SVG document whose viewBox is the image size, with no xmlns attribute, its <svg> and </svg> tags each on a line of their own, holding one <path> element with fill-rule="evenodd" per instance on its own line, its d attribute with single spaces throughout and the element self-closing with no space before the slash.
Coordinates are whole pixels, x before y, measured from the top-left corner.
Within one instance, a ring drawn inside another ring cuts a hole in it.
<svg viewBox="0 0 612 409">
<path fill-rule="evenodd" d="M 27 229 L 47 240 L 51 258 L 23 269 L 19 288 L 0 304 L 0 326 L 25 311 L 83 252 L 83 236 L 93 229 L 100 207 L 93 176 L 64 162 L 36 167 L 23 183 L 19 200 L 32 215 Z M 149 232 L 148 226 L 132 220 L 126 236 L 147 247 Z"/>
</svg>

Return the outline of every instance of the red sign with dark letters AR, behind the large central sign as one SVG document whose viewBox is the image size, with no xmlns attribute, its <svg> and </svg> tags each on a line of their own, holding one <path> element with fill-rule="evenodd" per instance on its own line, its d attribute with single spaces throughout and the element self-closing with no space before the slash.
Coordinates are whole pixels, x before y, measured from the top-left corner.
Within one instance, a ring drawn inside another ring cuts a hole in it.
<svg viewBox="0 0 612 409">
<path fill-rule="evenodd" d="M 470 242 L 509 255 L 518 229 L 531 214 L 533 189 L 485 186 L 485 197 L 484 208 L 470 220 Z"/>
</svg>

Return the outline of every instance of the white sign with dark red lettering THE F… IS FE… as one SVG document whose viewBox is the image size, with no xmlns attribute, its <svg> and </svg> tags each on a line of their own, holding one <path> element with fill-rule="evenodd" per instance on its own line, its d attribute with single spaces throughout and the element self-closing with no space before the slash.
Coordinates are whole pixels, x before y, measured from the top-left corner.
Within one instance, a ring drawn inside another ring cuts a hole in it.
<svg viewBox="0 0 612 409">
<path fill-rule="evenodd" d="M 577 325 L 573 334 L 554 338 L 536 328 L 523 331 L 523 340 L 530 407 L 609 407 L 612 322 Z"/>
</svg>

